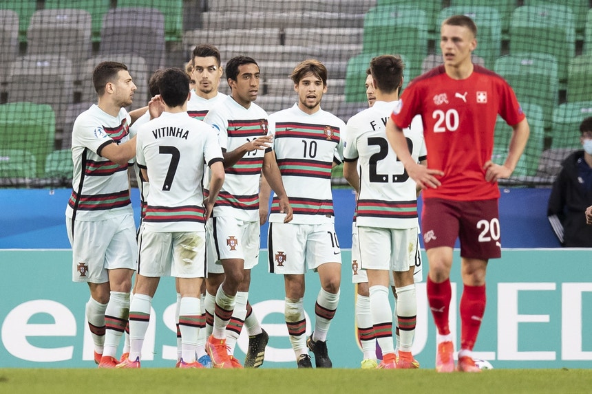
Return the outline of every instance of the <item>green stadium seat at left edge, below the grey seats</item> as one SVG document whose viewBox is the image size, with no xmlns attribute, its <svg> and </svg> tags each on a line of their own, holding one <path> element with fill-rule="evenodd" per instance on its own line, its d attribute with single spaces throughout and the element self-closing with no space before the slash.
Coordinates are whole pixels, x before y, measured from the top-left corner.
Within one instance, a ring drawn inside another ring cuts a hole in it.
<svg viewBox="0 0 592 394">
<path fill-rule="evenodd" d="M 43 176 L 45 158 L 54 150 L 55 132 L 56 116 L 50 105 L 32 102 L 0 105 L 2 149 L 30 152 L 39 164 L 36 168 L 38 177 Z M 12 164 L 14 161 L 12 159 Z"/>
</svg>

